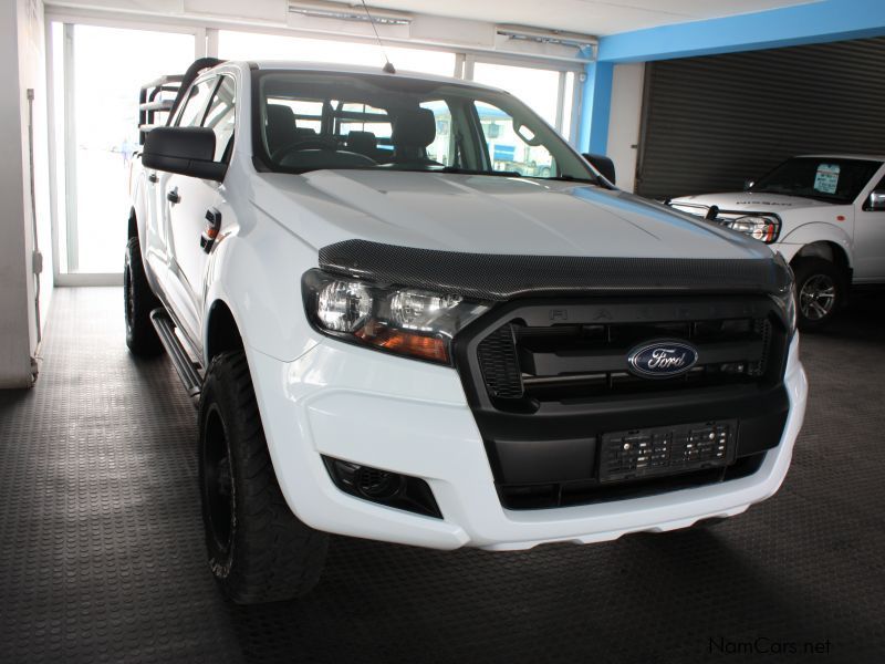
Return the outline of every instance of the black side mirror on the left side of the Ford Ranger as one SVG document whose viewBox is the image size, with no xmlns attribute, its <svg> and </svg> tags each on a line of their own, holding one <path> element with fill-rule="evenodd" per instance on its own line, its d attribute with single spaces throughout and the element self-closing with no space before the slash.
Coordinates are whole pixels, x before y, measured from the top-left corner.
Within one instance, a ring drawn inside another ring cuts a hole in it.
<svg viewBox="0 0 885 664">
<path fill-rule="evenodd" d="M 220 183 L 228 166 L 214 158 L 215 132 L 208 127 L 155 127 L 142 151 L 146 168 Z"/>
</svg>

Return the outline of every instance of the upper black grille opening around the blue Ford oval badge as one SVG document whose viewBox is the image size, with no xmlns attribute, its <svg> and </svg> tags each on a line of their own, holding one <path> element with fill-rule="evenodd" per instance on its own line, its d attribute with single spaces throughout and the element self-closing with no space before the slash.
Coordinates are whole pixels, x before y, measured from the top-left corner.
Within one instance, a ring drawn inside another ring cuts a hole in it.
<svg viewBox="0 0 885 664">
<path fill-rule="evenodd" d="M 485 387 L 503 409 L 606 394 L 662 392 L 753 383 L 768 370 L 772 323 L 767 318 L 575 323 L 531 326 L 512 320 L 479 344 Z M 631 349 L 657 339 L 686 341 L 699 361 L 678 377 L 629 372 Z"/>
</svg>

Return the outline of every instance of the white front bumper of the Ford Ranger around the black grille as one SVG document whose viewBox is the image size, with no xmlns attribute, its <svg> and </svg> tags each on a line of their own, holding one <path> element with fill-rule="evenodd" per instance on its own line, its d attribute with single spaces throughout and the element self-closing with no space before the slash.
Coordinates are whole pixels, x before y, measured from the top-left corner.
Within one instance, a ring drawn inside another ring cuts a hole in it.
<svg viewBox="0 0 885 664">
<path fill-rule="evenodd" d="M 294 362 L 253 349 L 247 354 L 273 465 L 292 511 L 317 530 L 436 549 L 589 543 L 740 513 L 783 481 L 808 395 L 796 335 L 784 375 L 787 425 L 780 444 L 752 475 L 620 501 L 508 510 L 455 370 L 334 340 L 323 340 Z M 344 494 L 321 455 L 425 479 L 444 518 Z"/>
</svg>

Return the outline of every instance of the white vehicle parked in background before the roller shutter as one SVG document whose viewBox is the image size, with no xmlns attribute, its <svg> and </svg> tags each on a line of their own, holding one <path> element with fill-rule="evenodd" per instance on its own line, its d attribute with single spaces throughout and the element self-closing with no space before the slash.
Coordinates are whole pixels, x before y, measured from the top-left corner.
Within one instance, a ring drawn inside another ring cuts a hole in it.
<svg viewBox="0 0 885 664">
<path fill-rule="evenodd" d="M 852 284 L 885 284 L 885 157 L 793 157 L 748 185 L 669 205 L 780 251 L 795 272 L 800 330 L 829 323 Z"/>
</svg>

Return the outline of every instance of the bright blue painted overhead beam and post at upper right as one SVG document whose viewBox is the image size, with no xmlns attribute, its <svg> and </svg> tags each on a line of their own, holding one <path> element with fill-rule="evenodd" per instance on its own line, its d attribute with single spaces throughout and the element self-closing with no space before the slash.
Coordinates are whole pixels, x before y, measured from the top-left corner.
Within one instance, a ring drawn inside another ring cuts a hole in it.
<svg viewBox="0 0 885 664">
<path fill-rule="evenodd" d="M 600 39 L 586 68 L 579 147 L 605 153 L 613 64 L 885 35 L 885 0 L 821 0 L 749 14 L 662 25 Z"/>
</svg>

